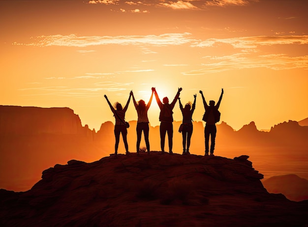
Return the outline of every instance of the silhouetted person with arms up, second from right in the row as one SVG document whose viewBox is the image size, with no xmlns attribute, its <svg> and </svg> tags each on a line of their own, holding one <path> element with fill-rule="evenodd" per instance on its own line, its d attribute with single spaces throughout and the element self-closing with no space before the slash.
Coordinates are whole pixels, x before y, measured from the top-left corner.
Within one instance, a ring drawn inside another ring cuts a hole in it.
<svg viewBox="0 0 308 227">
<path fill-rule="evenodd" d="M 190 146 L 190 139 L 192 135 L 192 114 L 196 108 L 196 97 L 197 95 L 194 94 L 194 101 L 191 106 L 191 103 L 187 103 L 185 107 L 183 108 L 183 105 L 181 103 L 181 99 L 179 98 L 179 104 L 180 109 L 183 115 L 183 128 L 182 128 L 182 137 L 183 137 L 183 154 L 190 154 L 189 153 L 189 146 Z M 186 147 L 186 141 L 187 141 L 187 147 Z"/>
</svg>

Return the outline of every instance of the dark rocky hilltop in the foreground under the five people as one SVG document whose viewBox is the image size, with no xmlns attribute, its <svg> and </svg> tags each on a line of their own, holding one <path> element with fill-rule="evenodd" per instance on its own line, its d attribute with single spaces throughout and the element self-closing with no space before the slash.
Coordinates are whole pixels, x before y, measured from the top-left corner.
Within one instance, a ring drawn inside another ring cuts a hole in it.
<svg viewBox="0 0 308 227">
<path fill-rule="evenodd" d="M 308 226 L 308 200 L 269 194 L 248 156 L 151 152 L 71 160 L 0 190 L 1 227 Z"/>
</svg>

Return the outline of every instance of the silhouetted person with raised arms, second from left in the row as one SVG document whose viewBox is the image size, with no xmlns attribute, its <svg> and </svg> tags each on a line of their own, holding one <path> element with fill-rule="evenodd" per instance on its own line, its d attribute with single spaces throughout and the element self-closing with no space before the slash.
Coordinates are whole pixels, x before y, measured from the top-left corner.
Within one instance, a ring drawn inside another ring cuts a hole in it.
<svg viewBox="0 0 308 227">
<path fill-rule="evenodd" d="M 136 144 L 136 148 L 137 148 L 137 154 L 139 154 L 139 150 L 140 150 L 140 142 L 141 142 L 141 135 L 142 135 L 142 131 L 144 134 L 144 140 L 146 141 L 146 146 L 147 146 L 147 150 L 148 150 L 148 154 L 150 154 L 150 142 L 149 142 L 149 118 L 148 118 L 148 110 L 151 106 L 152 103 L 152 99 L 153 99 L 153 93 L 154 93 L 154 89 L 152 89 L 152 94 L 150 97 L 150 100 L 148 102 L 148 104 L 146 105 L 144 100 L 139 100 L 139 102 L 137 103 L 134 97 L 133 92 L 131 92 L 132 97 L 133 97 L 133 102 L 137 111 L 137 115 L 138 115 L 138 120 L 137 120 L 137 144 Z"/>
</svg>

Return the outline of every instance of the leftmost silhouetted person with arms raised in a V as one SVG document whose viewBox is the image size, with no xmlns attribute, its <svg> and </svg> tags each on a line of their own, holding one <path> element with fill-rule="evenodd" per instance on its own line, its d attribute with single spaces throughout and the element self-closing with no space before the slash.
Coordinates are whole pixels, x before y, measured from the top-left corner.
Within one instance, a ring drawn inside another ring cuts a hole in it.
<svg viewBox="0 0 308 227">
<path fill-rule="evenodd" d="M 129 98 L 127 100 L 127 103 L 125 105 L 124 108 L 122 108 L 122 105 L 118 102 L 116 102 L 114 104 L 114 106 L 111 105 L 111 103 L 109 102 L 107 95 L 104 95 L 104 97 L 106 98 L 109 107 L 112 111 L 112 113 L 114 114 L 114 117 L 116 118 L 116 124 L 115 124 L 115 137 L 116 137 L 116 144 L 115 144 L 115 156 L 117 156 L 118 154 L 118 147 L 119 147 L 119 142 L 120 142 L 120 134 L 122 134 L 123 137 L 123 142 L 124 142 L 124 146 L 125 146 L 125 150 L 126 150 L 126 155 L 128 155 L 128 144 L 127 144 L 127 128 L 125 125 L 125 112 L 128 108 L 128 104 L 130 101 L 130 97 L 131 97 L 131 92 L 129 93 Z"/>
</svg>

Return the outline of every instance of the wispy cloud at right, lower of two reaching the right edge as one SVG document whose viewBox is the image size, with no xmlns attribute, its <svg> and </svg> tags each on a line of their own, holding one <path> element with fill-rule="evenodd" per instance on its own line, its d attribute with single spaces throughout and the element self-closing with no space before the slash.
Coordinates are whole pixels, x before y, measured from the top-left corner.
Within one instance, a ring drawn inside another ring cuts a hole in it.
<svg viewBox="0 0 308 227">
<path fill-rule="evenodd" d="M 203 75 L 235 69 L 269 68 L 273 70 L 286 70 L 302 68 L 308 70 L 308 56 L 288 57 L 283 54 L 262 55 L 257 57 L 248 54 L 235 54 L 231 56 L 212 57 L 212 62 L 202 64 L 201 69 L 183 72 L 184 75 Z"/>
</svg>

